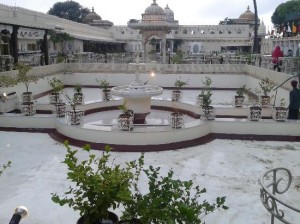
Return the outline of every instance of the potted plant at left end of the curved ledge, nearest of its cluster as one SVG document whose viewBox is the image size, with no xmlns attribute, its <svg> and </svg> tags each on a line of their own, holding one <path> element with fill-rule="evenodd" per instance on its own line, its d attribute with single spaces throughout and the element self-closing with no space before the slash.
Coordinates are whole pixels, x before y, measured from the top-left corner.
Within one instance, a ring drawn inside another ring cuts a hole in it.
<svg viewBox="0 0 300 224">
<path fill-rule="evenodd" d="M 84 111 L 81 109 L 77 109 L 77 105 L 74 96 L 70 97 L 68 93 L 64 93 L 64 96 L 71 107 L 69 110 L 66 112 L 66 123 L 70 125 L 80 125 L 83 120 L 84 116 Z"/>
</svg>

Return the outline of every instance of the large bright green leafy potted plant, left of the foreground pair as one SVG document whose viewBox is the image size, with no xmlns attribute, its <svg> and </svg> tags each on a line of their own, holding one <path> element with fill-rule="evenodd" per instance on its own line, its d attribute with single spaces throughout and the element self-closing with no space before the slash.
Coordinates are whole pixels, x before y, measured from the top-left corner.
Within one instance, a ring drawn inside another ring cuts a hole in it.
<svg viewBox="0 0 300 224">
<path fill-rule="evenodd" d="M 77 224 L 117 224 L 118 216 L 110 209 L 132 200 L 131 170 L 135 162 L 117 164 L 111 158 L 109 146 L 97 156 L 91 152 L 90 145 L 83 147 L 88 158 L 79 160 L 78 150 L 72 150 L 67 141 L 64 145 L 67 153 L 62 163 L 68 168 L 67 179 L 72 184 L 63 195 L 52 193 L 52 201 L 79 211 L 81 217 Z"/>
</svg>

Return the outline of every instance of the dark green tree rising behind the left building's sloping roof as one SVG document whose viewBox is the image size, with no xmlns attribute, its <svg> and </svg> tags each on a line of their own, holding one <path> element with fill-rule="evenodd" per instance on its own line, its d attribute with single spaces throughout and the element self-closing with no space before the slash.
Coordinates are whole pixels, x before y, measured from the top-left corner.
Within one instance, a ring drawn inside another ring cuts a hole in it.
<svg viewBox="0 0 300 224">
<path fill-rule="evenodd" d="M 50 8 L 48 14 L 82 23 L 83 19 L 90 12 L 88 8 L 84 8 L 79 3 L 68 0 L 65 2 L 56 2 L 53 7 Z"/>
</svg>

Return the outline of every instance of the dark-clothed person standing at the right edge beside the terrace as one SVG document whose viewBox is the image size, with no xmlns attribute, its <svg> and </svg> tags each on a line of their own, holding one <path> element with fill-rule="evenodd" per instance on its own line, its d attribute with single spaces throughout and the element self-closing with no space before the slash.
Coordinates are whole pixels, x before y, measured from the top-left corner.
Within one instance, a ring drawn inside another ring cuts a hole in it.
<svg viewBox="0 0 300 224">
<path fill-rule="evenodd" d="M 290 105 L 288 119 L 297 120 L 299 117 L 300 107 L 300 89 L 297 88 L 298 82 L 296 80 L 291 81 L 293 89 L 290 91 Z"/>
</svg>

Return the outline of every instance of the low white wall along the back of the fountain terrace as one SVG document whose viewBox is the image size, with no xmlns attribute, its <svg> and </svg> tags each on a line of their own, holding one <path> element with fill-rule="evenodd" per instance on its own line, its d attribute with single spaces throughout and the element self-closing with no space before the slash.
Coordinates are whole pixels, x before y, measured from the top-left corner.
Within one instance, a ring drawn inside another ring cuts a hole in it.
<svg viewBox="0 0 300 224">
<path fill-rule="evenodd" d="M 51 75 L 59 76 L 65 85 L 98 85 L 98 79 L 108 79 L 111 85 L 124 85 L 134 80 L 135 73 L 141 74 L 141 79 L 149 84 L 162 87 L 174 87 L 174 82 L 178 78 L 189 80 L 188 88 L 200 88 L 202 80 L 210 77 L 214 88 L 239 88 L 246 85 L 255 93 L 259 88 L 261 79 L 268 77 L 275 85 L 280 85 L 291 76 L 288 74 L 275 72 L 265 68 L 247 64 L 114 64 L 114 63 L 62 63 L 48 66 L 33 67 L 32 74 L 41 77 L 37 83 L 30 84 L 30 91 L 39 94 L 50 90 L 47 79 Z M 155 78 L 150 77 L 150 73 L 156 73 Z M 17 71 L 2 72 L 1 75 L 16 76 Z M 117 76 L 115 76 L 118 74 Z M 127 74 L 127 75 L 126 75 Z M 131 77 L 128 77 L 128 74 Z M 236 76 L 239 76 L 238 78 Z M 279 88 L 277 95 L 288 102 L 288 91 L 291 89 L 290 82 L 283 84 Z M 17 87 L 0 88 L 0 92 L 17 92 L 19 96 L 24 87 L 18 84 Z M 272 93 L 275 95 L 275 92 Z"/>
</svg>

